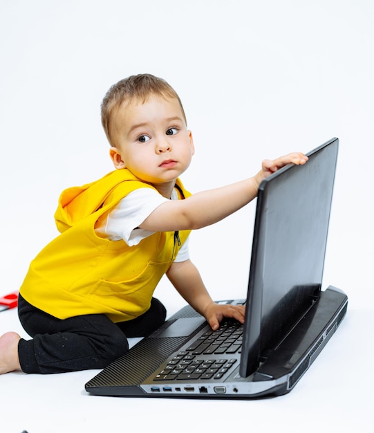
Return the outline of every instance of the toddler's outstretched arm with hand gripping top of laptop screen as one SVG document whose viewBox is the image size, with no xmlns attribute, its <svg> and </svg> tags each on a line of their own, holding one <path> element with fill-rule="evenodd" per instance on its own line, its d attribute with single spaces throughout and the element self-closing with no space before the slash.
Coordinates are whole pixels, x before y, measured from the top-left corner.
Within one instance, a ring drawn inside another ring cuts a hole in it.
<svg viewBox="0 0 374 433">
<path fill-rule="evenodd" d="M 214 190 L 198 192 L 185 200 L 170 200 L 158 206 L 140 228 L 156 232 L 193 230 L 211 225 L 243 208 L 256 197 L 263 179 L 290 163 L 305 164 L 301 153 L 264 160 L 256 176 Z"/>
</svg>

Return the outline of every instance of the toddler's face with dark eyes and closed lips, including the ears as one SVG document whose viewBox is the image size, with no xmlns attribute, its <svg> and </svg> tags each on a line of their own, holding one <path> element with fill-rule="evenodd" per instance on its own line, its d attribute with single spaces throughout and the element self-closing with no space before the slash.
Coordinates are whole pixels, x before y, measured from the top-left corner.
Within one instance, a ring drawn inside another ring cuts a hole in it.
<svg viewBox="0 0 374 433">
<path fill-rule="evenodd" d="M 113 118 L 111 158 L 156 187 L 172 185 L 191 162 L 194 142 L 178 100 L 151 95 L 142 103 L 120 107 Z"/>
</svg>

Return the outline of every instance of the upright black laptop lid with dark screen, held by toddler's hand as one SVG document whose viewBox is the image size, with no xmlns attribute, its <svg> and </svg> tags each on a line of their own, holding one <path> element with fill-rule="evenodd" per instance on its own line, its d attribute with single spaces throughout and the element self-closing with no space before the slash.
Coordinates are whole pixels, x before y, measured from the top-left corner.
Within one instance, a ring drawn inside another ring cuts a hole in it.
<svg viewBox="0 0 374 433">
<path fill-rule="evenodd" d="M 259 188 L 241 354 L 242 377 L 308 311 L 321 290 L 339 140 Z"/>
</svg>

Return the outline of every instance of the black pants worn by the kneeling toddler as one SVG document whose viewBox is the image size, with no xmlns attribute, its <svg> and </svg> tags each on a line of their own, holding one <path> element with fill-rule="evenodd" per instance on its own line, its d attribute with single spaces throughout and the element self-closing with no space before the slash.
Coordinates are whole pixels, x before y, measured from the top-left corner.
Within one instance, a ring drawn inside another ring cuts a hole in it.
<svg viewBox="0 0 374 433">
<path fill-rule="evenodd" d="M 102 369 L 129 349 L 127 338 L 143 337 L 165 322 L 166 309 L 152 298 L 136 319 L 113 323 L 104 314 L 57 319 L 19 295 L 18 315 L 32 340 L 21 338 L 19 362 L 26 373 L 62 373 Z"/>
</svg>

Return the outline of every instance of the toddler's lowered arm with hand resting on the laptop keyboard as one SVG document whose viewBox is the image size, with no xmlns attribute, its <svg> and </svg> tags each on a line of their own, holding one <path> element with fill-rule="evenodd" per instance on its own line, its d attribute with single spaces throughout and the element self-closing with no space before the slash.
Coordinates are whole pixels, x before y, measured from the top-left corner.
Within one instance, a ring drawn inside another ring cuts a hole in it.
<svg viewBox="0 0 374 433">
<path fill-rule="evenodd" d="M 203 315 L 212 329 L 216 330 L 223 317 L 233 317 L 244 322 L 245 307 L 216 304 L 209 296 L 196 266 L 190 261 L 174 262 L 167 277 L 176 290 L 198 313 Z"/>
</svg>

